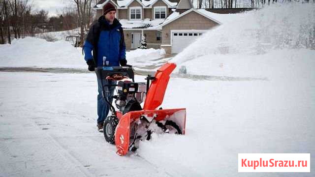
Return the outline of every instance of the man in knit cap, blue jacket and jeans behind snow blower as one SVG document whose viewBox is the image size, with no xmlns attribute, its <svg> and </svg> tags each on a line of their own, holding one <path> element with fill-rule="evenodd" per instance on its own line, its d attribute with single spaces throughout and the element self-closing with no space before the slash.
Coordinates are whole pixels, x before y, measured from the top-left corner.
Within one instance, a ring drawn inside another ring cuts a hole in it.
<svg viewBox="0 0 315 177">
<path fill-rule="evenodd" d="M 90 28 L 83 50 L 85 60 L 89 65 L 89 71 L 95 71 L 97 66 L 126 66 L 126 45 L 122 25 L 115 18 L 116 8 L 111 3 L 103 7 L 104 14 Z M 92 56 L 93 51 L 93 56 Z M 103 98 L 102 87 L 104 85 L 116 84 L 115 81 L 101 80 L 96 73 L 98 95 L 97 95 L 97 128 L 103 129 L 103 123 L 109 112 L 109 105 Z M 103 84 L 103 85 L 102 85 Z M 104 87 L 105 96 L 110 103 L 113 101 L 115 87 Z M 105 98 L 106 99 L 106 98 Z"/>
</svg>

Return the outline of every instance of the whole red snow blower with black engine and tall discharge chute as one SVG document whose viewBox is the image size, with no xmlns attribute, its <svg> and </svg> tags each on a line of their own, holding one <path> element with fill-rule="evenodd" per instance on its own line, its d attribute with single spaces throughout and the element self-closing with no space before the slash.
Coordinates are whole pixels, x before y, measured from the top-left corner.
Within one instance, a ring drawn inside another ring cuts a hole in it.
<svg viewBox="0 0 315 177">
<path fill-rule="evenodd" d="M 104 85 L 103 97 L 112 112 L 104 121 L 105 140 L 116 145 L 118 155 L 136 150 L 140 140 L 150 140 L 151 134 L 185 134 L 186 109 L 162 109 L 166 87 L 175 63 L 165 63 L 155 76 L 148 75 L 147 82 L 134 82 L 132 66 L 97 67 L 97 74 L 103 79 L 116 80 L 116 85 Z M 132 80 L 132 82 L 130 81 Z M 151 84 L 150 84 L 151 82 Z M 115 107 L 107 100 L 106 87 L 115 86 Z M 143 108 L 141 103 L 144 101 Z"/>
</svg>

